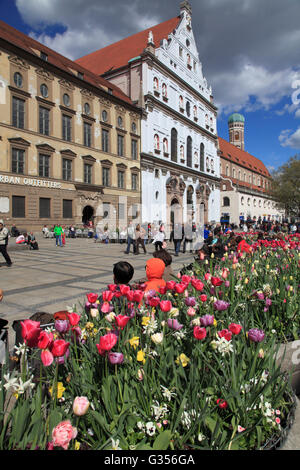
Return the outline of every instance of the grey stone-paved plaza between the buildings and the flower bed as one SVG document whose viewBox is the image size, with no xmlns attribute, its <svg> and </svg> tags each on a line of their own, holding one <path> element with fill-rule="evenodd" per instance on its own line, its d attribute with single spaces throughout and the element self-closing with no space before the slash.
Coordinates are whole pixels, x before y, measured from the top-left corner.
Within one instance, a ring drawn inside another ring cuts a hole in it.
<svg viewBox="0 0 300 470">
<path fill-rule="evenodd" d="M 38 237 L 39 250 L 14 250 L 9 243 L 13 261 L 8 268 L 0 259 L 0 288 L 4 298 L 0 304 L 2 318 L 9 321 L 29 318 L 36 312 L 53 314 L 67 306 L 83 303 L 86 294 L 99 292 L 113 282 L 113 264 L 123 260 L 134 267 L 133 280 L 145 276 L 145 261 L 152 256 L 154 245 L 146 245 L 147 254 L 124 254 L 126 245 L 95 243 L 93 239 L 67 239 L 64 247 L 56 247 L 54 239 Z M 173 244 L 170 253 L 173 254 Z M 132 247 L 131 247 L 132 250 Z M 190 253 L 173 257 L 173 270 L 193 260 Z M 11 330 L 11 329 L 10 329 Z M 10 347 L 13 345 L 10 331 Z"/>
</svg>

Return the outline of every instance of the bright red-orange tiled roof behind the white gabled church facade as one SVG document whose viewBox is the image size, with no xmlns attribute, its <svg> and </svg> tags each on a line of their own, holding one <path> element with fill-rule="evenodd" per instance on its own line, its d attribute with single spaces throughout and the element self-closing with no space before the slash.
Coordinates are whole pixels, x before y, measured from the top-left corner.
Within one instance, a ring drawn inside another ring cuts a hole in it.
<svg viewBox="0 0 300 470">
<path fill-rule="evenodd" d="M 160 47 L 162 39 L 167 39 L 168 35 L 177 28 L 181 21 L 181 16 L 176 16 L 164 21 L 156 26 L 140 31 L 125 39 L 121 39 L 103 49 L 92 52 L 76 60 L 77 64 L 86 67 L 97 75 L 116 70 L 128 64 L 128 62 L 139 57 L 147 47 L 149 32 L 153 33 L 155 48 Z"/>
</svg>

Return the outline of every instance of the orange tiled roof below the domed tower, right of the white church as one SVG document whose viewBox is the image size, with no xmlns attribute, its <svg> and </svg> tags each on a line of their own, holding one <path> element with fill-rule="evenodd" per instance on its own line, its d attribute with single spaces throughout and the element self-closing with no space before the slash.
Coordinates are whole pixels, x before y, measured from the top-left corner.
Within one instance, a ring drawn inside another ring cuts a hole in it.
<svg viewBox="0 0 300 470">
<path fill-rule="evenodd" d="M 230 144 L 226 140 L 218 137 L 219 140 L 219 147 L 220 147 L 220 156 L 221 158 L 225 158 L 232 163 L 236 163 L 248 170 L 254 171 L 266 178 L 271 178 L 270 173 L 268 172 L 267 168 L 263 164 L 261 160 L 254 157 L 250 153 L 246 152 L 245 150 L 241 150 L 233 144 Z"/>
</svg>

